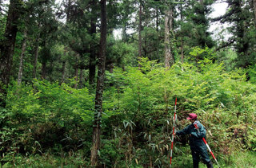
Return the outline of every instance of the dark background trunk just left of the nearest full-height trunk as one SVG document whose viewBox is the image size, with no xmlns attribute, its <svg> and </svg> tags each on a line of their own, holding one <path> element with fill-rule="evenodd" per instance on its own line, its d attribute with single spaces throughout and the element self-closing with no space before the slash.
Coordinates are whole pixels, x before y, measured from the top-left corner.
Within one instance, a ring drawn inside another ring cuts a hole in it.
<svg viewBox="0 0 256 168">
<path fill-rule="evenodd" d="M 96 13 L 96 2 L 95 0 L 92 0 L 92 11 L 93 14 L 91 20 L 90 20 L 90 35 L 95 37 L 96 34 L 96 21 L 97 18 L 94 15 Z M 95 84 L 95 72 L 96 72 L 96 49 L 94 42 L 90 43 L 90 61 L 89 61 L 89 84 L 92 88 L 94 88 Z"/>
</svg>

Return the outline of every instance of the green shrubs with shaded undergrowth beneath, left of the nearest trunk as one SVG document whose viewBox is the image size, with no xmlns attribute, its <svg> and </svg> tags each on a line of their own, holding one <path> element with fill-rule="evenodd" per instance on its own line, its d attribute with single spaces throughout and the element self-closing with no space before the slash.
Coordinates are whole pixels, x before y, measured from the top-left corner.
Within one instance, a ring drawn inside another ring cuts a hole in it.
<svg viewBox="0 0 256 168">
<path fill-rule="evenodd" d="M 7 155 L 90 150 L 84 139 L 91 138 L 94 101 L 87 88 L 35 80 L 33 86 L 13 84 L 8 89 L 8 112 L 2 113 L 6 127 L 0 133 Z"/>
</svg>

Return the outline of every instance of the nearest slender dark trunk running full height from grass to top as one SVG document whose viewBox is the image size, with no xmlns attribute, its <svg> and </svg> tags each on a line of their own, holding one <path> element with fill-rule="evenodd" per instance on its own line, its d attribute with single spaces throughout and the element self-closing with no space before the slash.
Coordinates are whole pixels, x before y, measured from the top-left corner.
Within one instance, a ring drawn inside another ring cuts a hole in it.
<svg viewBox="0 0 256 168">
<path fill-rule="evenodd" d="M 98 56 L 98 79 L 95 96 L 95 111 L 94 111 L 94 133 L 93 143 L 91 148 L 91 166 L 98 164 L 98 150 L 100 146 L 101 135 L 101 119 L 102 119 L 102 94 L 105 78 L 105 62 L 106 62 L 106 0 L 101 0 L 101 40 Z"/>
</svg>

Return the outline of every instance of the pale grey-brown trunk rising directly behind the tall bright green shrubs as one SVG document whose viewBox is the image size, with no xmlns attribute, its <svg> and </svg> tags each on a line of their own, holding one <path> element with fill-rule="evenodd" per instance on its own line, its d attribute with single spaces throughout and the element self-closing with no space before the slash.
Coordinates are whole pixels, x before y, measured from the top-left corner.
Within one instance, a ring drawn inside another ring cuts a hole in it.
<svg viewBox="0 0 256 168">
<path fill-rule="evenodd" d="M 174 58 L 171 53 L 170 32 L 172 31 L 173 10 L 169 7 L 165 16 L 165 67 L 170 68 L 170 61 L 174 64 Z"/>
</svg>

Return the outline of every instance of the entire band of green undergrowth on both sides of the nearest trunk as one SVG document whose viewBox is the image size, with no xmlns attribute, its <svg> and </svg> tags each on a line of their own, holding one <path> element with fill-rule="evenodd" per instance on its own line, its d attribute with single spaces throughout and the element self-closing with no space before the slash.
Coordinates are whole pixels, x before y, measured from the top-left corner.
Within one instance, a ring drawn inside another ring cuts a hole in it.
<svg viewBox="0 0 256 168">
<path fill-rule="evenodd" d="M 140 69 L 116 68 L 106 74 L 102 165 L 167 166 L 177 97 L 178 129 L 188 124 L 187 114 L 197 113 L 222 166 L 255 166 L 256 86 L 246 81 L 245 72 L 226 72 L 209 60 L 170 69 L 146 59 L 141 64 Z M 72 85 L 35 80 L 8 88 L 0 123 L 2 165 L 90 165 L 94 94 Z M 191 165 L 186 142 L 186 137 L 175 139 L 177 167 Z"/>
</svg>

